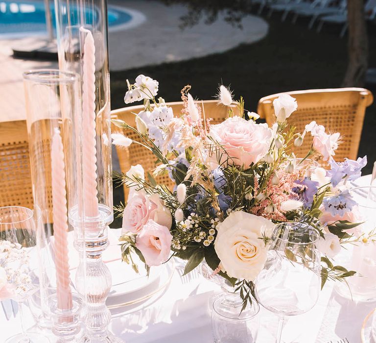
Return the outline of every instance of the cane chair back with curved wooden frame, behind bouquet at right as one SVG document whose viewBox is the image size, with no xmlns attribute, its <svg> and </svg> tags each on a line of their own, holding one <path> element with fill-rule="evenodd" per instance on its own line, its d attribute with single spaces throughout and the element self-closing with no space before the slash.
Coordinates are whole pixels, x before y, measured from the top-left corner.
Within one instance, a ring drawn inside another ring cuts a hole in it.
<svg viewBox="0 0 376 343">
<path fill-rule="evenodd" d="M 273 100 L 282 93 L 273 94 L 258 101 L 258 114 L 271 126 L 276 121 Z M 339 132 L 342 143 L 335 152 L 334 159 L 343 161 L 345 157 L 356 159 L 363 128 L 366 107 L 373 102 L 372 93 L 364 88 L 313 89 L 286 92 L 296 98 L 298 109 L 287 119 L 303 133 L 305 125 L 316 121 L 324 125 L 330 133 Z M 294 147 L 297 157 L 304 157 L 312 144 L 310 134 L 305 136 L 301 147 Z"/>
</svg>

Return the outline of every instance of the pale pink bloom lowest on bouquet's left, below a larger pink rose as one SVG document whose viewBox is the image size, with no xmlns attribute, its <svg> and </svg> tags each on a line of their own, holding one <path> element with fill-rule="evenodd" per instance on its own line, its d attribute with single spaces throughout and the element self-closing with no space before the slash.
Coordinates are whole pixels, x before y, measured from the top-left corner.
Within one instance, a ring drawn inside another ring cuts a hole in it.
<svg viewBox="0 0 376 343">
<path fill-rule="evenodd" d="M 137 235 L 136 246 L 150 266 L 166 262 L 171 249 L 172 235 L 167 227 L 149 220 Z"/>
</svg>

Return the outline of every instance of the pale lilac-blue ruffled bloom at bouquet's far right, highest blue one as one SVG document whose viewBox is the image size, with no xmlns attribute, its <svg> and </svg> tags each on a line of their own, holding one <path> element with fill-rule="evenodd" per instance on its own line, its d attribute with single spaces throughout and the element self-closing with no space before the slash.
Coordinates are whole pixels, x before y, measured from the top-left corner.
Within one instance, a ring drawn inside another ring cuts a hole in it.
<svg viewBox="0 0 376 343">
<path fill-rule="evenodd" d="M 345 158 L 344 162 L 337 163 L 332 158 L 329 160 L 331 169 L 327 172 L 333 187 L 336 187 L 342 179 L 356 180 L 362 174 L 361 170 L 367 164 L 367 156 L 358 157 L 356 161 Z"/>
</svg>

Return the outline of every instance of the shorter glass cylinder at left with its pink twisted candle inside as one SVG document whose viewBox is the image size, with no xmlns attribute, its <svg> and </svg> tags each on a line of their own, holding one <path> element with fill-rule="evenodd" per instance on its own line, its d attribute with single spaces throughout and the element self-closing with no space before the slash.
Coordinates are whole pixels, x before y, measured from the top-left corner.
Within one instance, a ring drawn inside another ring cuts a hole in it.
<svg viewBox="0 0 376 343">
<path fill-rule="evenodd" d="M 58 70 L 24 73 L 30 168 L 37 225 L 41 315 L 52 325 L 47 298 L 54 288 L 61 310 L 71 310 L 68 207 L 77 206 L 75 122 L 81 113 L 77 75 Z M 70 180 L 70 182 L 68 182 Z M 73 247 L 73 244 L 71 243 Z M 84 253 L 84 252 L 83 252 Z"/>
</svg>

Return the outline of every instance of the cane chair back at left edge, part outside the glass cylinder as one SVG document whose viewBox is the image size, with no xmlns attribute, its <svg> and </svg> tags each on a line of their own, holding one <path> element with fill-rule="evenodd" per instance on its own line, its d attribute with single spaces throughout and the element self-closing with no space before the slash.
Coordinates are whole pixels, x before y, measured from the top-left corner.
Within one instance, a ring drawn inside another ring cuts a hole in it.
<svg viewBox="0 0 376 343">
<path fill-rule="evenodd" d="M 0 206 L 33 208 L 26 121 L 0 123 Z"/>
</svg>

